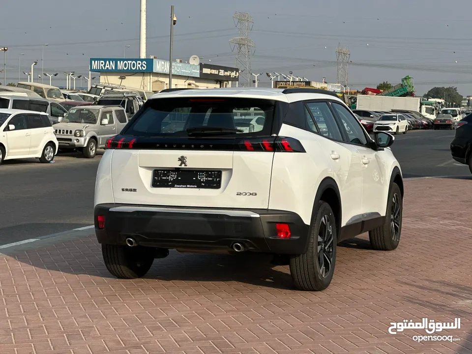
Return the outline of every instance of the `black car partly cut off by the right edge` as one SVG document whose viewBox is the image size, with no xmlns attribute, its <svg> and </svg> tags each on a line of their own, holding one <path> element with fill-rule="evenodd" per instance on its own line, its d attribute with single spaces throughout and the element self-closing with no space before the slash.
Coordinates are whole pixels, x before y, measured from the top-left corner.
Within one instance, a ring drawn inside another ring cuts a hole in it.
<svg viewBox="0 0 472 354">
<path fill-rule="evenodd" d="M 454 160 L 468 165 L 472 173 L 472 115 L 457 122 L 454 139 L 452 139 L 451 155 Z"/>
</svg>

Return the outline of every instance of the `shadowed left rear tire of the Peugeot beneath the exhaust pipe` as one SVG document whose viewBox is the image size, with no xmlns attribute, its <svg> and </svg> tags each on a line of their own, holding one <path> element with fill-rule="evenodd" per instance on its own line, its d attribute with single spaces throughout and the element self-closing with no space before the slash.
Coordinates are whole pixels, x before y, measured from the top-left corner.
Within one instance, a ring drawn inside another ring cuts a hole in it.
<svg viewBox="0 0 472 354">
<path fill-rule="evenodd" d="M 108 271 L 120 279 L 141 278 L 154 262 L 153 249 L 143 246 L 102 244 L 102 255 Z"/>
</svg>

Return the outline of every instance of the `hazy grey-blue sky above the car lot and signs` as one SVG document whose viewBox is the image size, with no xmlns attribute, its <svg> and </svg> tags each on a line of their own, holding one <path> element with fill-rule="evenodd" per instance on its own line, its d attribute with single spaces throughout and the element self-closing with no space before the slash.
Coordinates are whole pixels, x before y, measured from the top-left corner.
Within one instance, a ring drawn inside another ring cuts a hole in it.
<svg viewBox="0 0 472 354">
<path fill-rule="evenodd" d="M 261 86 L 268 82 L 265 73 L 274 71 L 335 83 L 340 43 L 351 52 L 350 89 L 383 81 L 396 85 L 410 75 L 416 95 L 435 86 L 472 94 L 472 21 L 466 0 L 148 0 L 147 57 L 169 59 L 171 5 L 177 16 L 174 59 L 198 55 L 201 62 L 225 66 L 235 66 L 236 51 L 229 44 L 238 35 L 233 16 L 249 13 L 254 20 L 250 38 L 256 43 L 251 68 L 263 73 Z M 139 58 L 139 22 L 140 0 L 2 0 L 6 81 L 18 81 L 19 63 L 20 72 L 29 72 L 38 60 L 37 81 L 42 56 L 44 72 L 58 72 L 53 85 L 61 87 L 64 71 L 88 76 L 89 58 L 122 58 L 127 45 L 126 57 Z M 20 78 L 28 81 L 23 73 Z"/>
</svg>

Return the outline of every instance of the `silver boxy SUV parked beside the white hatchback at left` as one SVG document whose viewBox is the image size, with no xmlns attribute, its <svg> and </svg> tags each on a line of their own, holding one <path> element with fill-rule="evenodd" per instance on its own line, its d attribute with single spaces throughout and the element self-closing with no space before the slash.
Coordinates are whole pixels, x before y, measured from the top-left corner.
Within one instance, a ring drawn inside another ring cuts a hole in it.
<svg viewBox="0 0 472 354">
<path fill-rule="evenodd" d="M 60 150 L 81 150 L 85 157 L 93 158 L 97 148 L 105 148 L 107 140 L 119 134 L 127 122 L 120 106 L 77 106 L 54 125 L 54 133 Z"/>
</svg>

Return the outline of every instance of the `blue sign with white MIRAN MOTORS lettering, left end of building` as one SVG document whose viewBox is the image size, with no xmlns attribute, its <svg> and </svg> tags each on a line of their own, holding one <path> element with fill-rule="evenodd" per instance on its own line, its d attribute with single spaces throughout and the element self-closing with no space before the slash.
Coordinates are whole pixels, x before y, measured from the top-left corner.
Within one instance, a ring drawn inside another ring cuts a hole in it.
<svg viewBox="0 0 472 354">
<path fill-rule="evenodd" d="M 94 72 L 154 72 L 154 59 L 90 58 Z"/>
</svg>

